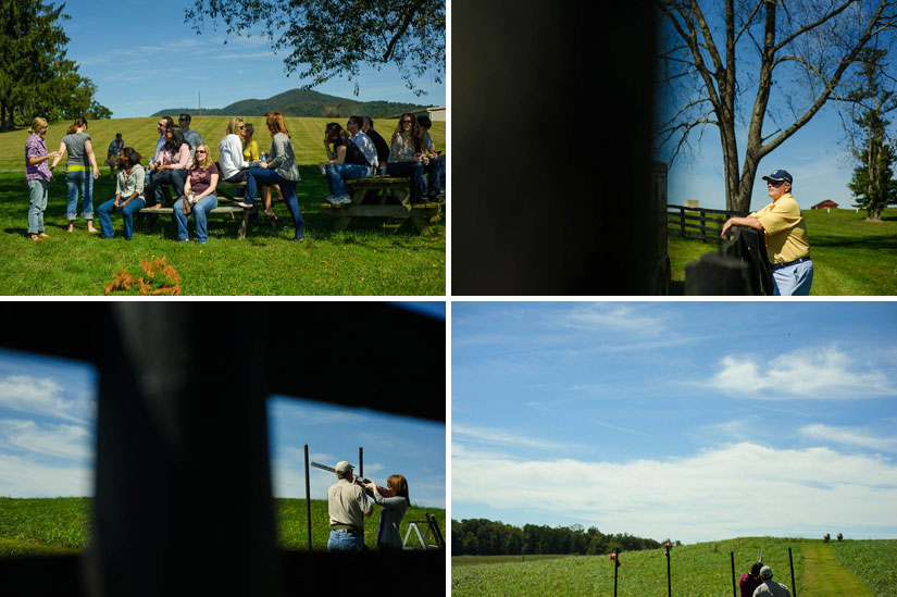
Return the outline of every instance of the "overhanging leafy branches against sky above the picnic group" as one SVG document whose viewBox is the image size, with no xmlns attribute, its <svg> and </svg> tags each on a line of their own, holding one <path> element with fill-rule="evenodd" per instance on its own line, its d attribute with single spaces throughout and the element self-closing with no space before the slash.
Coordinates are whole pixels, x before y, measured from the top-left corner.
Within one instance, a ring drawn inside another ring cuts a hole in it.
<svg viewBox="0 0 897 597">
<path fill-rule="evenodd" d="M 445 0 L 196 0 L 185 15 L 198 34 L 205 17 L 228 35 L 261 30 L 272 49 L 290 51 L 287 75 L 301 67 L 303 89 L 345 75 L 358 95 L 363 65 L 393 63 L 420 96 L 415 79 L 441 83 L 446 70 Z"/>
</svg>

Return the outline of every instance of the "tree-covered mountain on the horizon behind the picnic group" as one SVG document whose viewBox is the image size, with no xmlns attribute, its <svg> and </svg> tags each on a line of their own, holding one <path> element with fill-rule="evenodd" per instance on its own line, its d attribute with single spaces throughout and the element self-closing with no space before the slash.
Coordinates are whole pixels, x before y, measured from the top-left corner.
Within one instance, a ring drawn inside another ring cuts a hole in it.
<svg viewBox="0 0 897 597">
<path fill-rule="evenodd" d="M 394 101 L 356 101 L 317 91 L 291 89 L 265 100 L 241 100 L 225 108 L 202 109 L 207 116 L 264 116 L 269 112 L 281 112 L 285 116 L 349 117 L 351 115 L 381 119 L 402 112 L 414 112 L 426 105 L 398 103 Z M 196 108 L 170 108 L 160 110 L 153 116 L 199 114 Z"/>
</svg>

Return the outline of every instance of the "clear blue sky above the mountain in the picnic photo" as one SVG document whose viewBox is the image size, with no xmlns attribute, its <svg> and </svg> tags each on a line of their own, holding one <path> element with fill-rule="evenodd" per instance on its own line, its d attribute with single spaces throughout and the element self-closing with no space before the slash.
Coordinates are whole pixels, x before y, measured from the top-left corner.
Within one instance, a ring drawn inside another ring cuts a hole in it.
<svg viewBox="0 0 897 597">
<path fill-rule="evenodd" d="M 58 4 L 59 2 L 57 2 Z M 244 99 L 265 99 L 302 85 L 286 76 L 284 58 L 265 38 L 227 37 L 225 28 L 198 36 L 184 22 L 190 0 L 94 2 L 67 0 L 63 23 L 70 37 L 67 57 L 98 87 L 97 100 L 113 117 L 138 117 L 167 108 L 224 108 Z M 446 105 L 446 85 L 419 79 L 427 91 L 420 98 L 408 90 L 395 67 L 365 70 L 359 83 L 361 101 L 387 100 Z M 354 82 L 332 79 L 315 88 L 322 94 L 354 98 Z"/>
</svg>

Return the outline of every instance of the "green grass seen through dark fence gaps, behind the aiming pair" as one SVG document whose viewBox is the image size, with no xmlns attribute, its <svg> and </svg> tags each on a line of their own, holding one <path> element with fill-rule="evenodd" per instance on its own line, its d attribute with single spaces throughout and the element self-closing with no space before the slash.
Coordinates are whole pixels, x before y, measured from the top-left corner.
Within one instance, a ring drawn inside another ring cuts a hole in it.
<svg viewBox="0 0 897 597">
<path fill-rule="evenodd" d="M 281 546 L 284 549 L 308 549 L 306 526 L 306 500 L 278 498 L 277 525 Z M 0 497 L 0 557 L 50 554 L 74 554 L 87 546 L 89 540 L 91 498 L 34 498 L 18 499 Z M 379 507 L 364 519 L 364 543 L 376 548 L 376 532 Z M 327 500 L 311 500 L 312 549 L 326 550 L 329 534 Z M 435 515 L 439 530 L 445 536 L 446 511 L 438 508 L 412 506 L 402 519 L 401 536 L 414 521 L 425 521 L 425 512 Z M 426 527 L 421 525 L 421 533 Z M 409 538 L 409 545 L 420 545 Z M 432 542 L 431 542 L 432 543 Z"/>
</svg>

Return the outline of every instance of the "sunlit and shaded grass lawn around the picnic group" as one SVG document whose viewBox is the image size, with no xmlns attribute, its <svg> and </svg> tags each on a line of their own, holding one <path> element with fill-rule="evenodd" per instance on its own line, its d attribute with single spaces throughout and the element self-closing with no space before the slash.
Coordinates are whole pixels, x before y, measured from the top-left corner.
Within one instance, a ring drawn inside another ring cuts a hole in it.
<svg viewBox="0 0 897 597">
<path fill-rule="evenodd" d="M 217 158 L 217 144 L 229 117 L 194 119 Z M 345 119 L 344 119 L 345 120 Z M 264 150 L 271 137 L 264 119 L 247 117 L 257 128 L 256 139 Z M 89 123 L 97 139 L 98 153 L 121 132 L 125 144 L 141 154 L 155 147 L 158 119 L 123 119 Z M 180 276 L 182 295 L 353 295 L 353 296 L 445 296 L 446 224 L 433 225 L 435 235 L 420 236 L 410 222 L 401 219 L 354 220 L 345 232 L 334 232 L 335 219 L 323 213 L 321 203 L 328 195 L 326 179 L 316 169 L 326 154 L 323 148 L 327 119 L 287 119 L 292 135 L 302 181 L 297 187 L 304 221 L 304 242 L 289 242 L 292 220 L 283 203 L 275 203 L 279 217 L 276 227 L 260 222 L 250 224 L 247 237 L 237 239 L 239 221 L 226 214 L 209 219 L 209 244 L 179 244 L 174 222 L 162 216 L 151 228 L 136 223 L 134 239 L 122 237 L 122 216 L 113 214 L 116 237 L 101 239 L 89 235 L 83 220 L 73 234 L 66 232 L 65 175 L 57 173 L 50 184 L 45 214 L 51 238 L 33 242 L 27 237 L 28 192 L 24 172 L 0 174 L 0 252 L 7 262 L 0 273 L 5 295 L 103 295 L 114 273 L 128 270 L 139 276 L 140 261 L 164 257 Z M 396 121 L 377 124 L 385 137 Z M 50 127 L 47 145 L 54 150 L 67 123 Z M 445 123 L 434 124 L 434 142 L 445 149 Z M 0 169 L 24 170 L 27 132 L 0 134 Z M 64 165 L 64 162 L 61 164 Z M 109 169 L 95 182 L 94 207 L 115 195 Z M 79 208 L 80 209 L 80 208 Z M 99 221 L 95 221 L 99 227 Z M 194 223 L 189 220 L 192 234 Z M 288 229 L 284 231 L 284 226 Z M 136 287 L 112 296 L 137 295 Z"/>
</svg>

